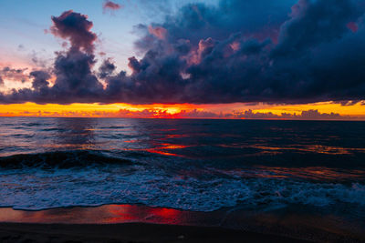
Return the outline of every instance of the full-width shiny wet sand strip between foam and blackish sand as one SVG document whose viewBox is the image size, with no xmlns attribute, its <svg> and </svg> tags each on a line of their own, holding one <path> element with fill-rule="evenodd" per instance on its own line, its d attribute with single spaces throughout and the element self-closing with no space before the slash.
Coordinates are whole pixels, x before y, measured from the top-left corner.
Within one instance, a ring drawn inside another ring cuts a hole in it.
<svg viewBox="0 0 365 243">
<path fill-rule="evenodd" d="M 0 222 L 118 224 L 157 223 L 169 225 L 224 227 L 264 234 L 302 238 L 314 242 L 362 242 L 364 223 L 339 218 L 332 213 L 308 215 L 308 208 L 289 208 L 271 212 L 220 210 L 210 213 L 139 205 L 104 205 L 98 208 L 55 208 L 20 211 L 0 208 Z M 66 231 L 65 231 L 66 232 Z"/>
</svg>

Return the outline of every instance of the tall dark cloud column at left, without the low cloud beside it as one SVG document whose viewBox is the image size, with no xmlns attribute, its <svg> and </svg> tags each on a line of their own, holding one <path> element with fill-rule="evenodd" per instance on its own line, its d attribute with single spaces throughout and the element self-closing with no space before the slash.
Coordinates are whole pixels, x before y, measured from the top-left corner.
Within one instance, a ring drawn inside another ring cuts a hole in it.
<svg viewBox="0 0 365 243">
<path fill-rule="evenodd" d="M 87 15 L 72 11 L 53 16 L 52 21 L 52 33 L 68 39 L 70 48 L 66 53 L 57 53 L 53 70 L 56 81 L 48 88 L 48 102 L 66 104 L 99 100 L 103 86 L 92 71 L 97 39 L 97 35 L 90 31 L 92 22 Z"/>
</svg>

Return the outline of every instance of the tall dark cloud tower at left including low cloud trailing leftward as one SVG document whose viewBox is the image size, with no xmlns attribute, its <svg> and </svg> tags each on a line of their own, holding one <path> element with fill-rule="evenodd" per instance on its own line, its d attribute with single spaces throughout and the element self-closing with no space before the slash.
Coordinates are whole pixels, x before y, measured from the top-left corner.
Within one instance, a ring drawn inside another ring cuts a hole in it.
<svg viewBox="0 0 365 243">
<path fill-rule="evenodd" d="M 10 95 L 3 96 L 5 103 L 33 101 L 36 103 L 69 104 L 74 102 L 97 102 L 103 96 L 103 86 L 94 75 L 93 55 L 96 35 L 90 31 L 92 22 L 86 15 L 72 11 L 52 17 L 54 25 L 52 34 L 68 39 L 70 47 L 67 52 L 58 52 L 51 73 L 33 71 L 32 88 L 13 90 Z M 55 76 L 53 86 L 49 79 Z"/>
</svg>

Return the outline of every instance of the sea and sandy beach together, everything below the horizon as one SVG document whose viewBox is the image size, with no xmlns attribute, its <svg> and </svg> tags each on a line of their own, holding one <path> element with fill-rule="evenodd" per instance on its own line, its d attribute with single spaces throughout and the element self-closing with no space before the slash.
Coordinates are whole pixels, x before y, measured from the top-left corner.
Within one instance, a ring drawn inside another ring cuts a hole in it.
<svg viewBox="0 0 365 243">
<path fill-rule="evenodd" d="M 364 128 L 4 117 L 0 242 L 365 241 Z"/>
</svg>

